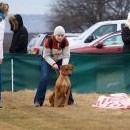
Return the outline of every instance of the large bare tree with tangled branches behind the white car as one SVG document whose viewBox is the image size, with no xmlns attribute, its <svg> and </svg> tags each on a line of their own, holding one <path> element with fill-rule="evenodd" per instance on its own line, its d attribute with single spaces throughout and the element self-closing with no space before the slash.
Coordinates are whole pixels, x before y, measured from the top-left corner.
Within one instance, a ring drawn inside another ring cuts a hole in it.
<svg viewBox="0 0 130 130">
<path fill-rule="evenodd" d="M 126 18 L 129 8 L 130 0 L 55 0 L 51 28 L 62 25 L 68 32 L 82 32 L 98 21 Z"/>
</svg>

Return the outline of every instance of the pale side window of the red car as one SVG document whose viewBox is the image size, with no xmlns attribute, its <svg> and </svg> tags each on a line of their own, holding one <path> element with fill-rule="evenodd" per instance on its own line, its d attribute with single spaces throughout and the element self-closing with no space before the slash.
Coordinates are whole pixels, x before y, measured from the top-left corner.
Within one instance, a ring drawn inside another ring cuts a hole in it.
<svg viewBox="0 0 130 130">
<path fill-rule="evenodd" d="M 117 46 L 117 45 L 123 45 L 121 34 L 114 35 L 104 40 L 104 46 Z"/>
</svg>

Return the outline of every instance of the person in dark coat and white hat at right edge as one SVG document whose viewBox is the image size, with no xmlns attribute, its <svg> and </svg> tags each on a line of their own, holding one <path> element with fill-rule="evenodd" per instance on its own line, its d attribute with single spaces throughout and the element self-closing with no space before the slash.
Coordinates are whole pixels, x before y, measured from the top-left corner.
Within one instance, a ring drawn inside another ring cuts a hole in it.
<svg viewBox="0 0 130 130">
<path fill-rule="evenodd" d="M 123 52 L 130 52 L 130 12 L 124 27 L 121 32 L 122 40 L 124 42 Z"/>
</svg>

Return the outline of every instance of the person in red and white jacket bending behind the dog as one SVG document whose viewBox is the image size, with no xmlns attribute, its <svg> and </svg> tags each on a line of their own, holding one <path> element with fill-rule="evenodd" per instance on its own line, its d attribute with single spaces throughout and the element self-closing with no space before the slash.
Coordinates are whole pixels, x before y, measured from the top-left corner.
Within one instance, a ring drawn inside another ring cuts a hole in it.
<svg viewBox="0 0 130 130">
<path fill-rule="evenodd" d="M 52 44 L 50 44 L 51 41 Z M 50 70 L 58 71 L 60 66 L 68 64 L 70 59 L 69 42 L 65 37 L 65 30 L 62 26 L 55 28 L 54 33 L 45 40 L 43 46 L 41 77 L 34 97 L 35 107 L 43 105 Z M 68 104 L 71 105 L 73 103 L 72 93 L 70 93 Z"/>
</svg>

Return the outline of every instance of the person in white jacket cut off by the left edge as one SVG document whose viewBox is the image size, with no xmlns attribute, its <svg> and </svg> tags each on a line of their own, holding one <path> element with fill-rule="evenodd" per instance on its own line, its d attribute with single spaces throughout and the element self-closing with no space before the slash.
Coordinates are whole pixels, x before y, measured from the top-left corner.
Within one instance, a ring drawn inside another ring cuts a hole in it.
<svg viewBox="0 0 130 130">
<path fill-rule="evenodd" d="M 0 2 L 0 108 L 2 108 L 2 80 L 1 80 L 1 64 L 3 61 L 3 40 L 4 40 L 4 31 L 5 31 L 5 17 L 8 14 L 9 5 L 3 2 Z"/>
</svg>

